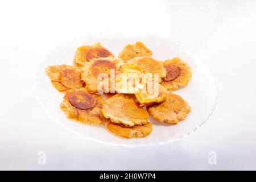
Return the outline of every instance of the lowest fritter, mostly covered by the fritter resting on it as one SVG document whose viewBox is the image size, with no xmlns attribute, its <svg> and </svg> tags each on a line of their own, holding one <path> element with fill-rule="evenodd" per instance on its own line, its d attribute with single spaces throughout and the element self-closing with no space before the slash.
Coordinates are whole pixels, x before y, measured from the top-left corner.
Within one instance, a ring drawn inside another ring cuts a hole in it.
<svg viewBox="0 0 256 182">
<path fill-rule="evenodd" d="M 123 126 L 120 124 L 109 122 L 106 128 L 113 134 L 124 138 L 142 138 L 146 137 L 152 132 L 152 124 L 147 122 L 142 126 Z"/>
</svg>

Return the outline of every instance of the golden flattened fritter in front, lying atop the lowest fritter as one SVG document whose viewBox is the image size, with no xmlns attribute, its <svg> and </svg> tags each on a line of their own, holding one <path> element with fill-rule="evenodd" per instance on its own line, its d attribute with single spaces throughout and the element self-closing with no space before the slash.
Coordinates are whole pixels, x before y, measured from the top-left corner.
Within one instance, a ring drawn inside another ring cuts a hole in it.
<svg viewBox="0 0 256 182">
<path fill-rule="evenodd" d="M 149 117 L 147 111 L 138 106 L 133 96 L 125 94 L 115 94 L 106 100 L 102 114 L 113 123 L 130 127 L 146 124 Z"/>
</svg>

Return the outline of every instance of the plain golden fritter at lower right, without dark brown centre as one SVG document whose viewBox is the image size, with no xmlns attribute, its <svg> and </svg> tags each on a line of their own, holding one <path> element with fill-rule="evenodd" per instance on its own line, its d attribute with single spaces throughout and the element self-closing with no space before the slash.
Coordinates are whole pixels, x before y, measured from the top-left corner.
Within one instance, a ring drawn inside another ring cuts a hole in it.
<svg viewBox="0 0 256 182">
<path fill-rule="evenodd" d="M 176 124 L 185 119 L 191 107 L 180 96 L 169 92 L 165 101 L 147 107 L 148 113 L 160 122 Z"/>
</svg>

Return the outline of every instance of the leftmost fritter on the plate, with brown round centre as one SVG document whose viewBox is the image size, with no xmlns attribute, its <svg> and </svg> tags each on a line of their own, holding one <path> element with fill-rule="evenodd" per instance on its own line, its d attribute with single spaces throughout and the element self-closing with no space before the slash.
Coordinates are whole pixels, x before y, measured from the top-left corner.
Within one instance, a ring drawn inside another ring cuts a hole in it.
<svg viewBox="0 0 256 182">
<path fill-rule="evenodd" d="M 80 70 L 70 65 L 52 65 L 47 67 L 46 73 L 53 86 L 60 92 L 66 92 L 73 88 L 82 88 L 85 85 L 81 80 Z"/>
</svg>

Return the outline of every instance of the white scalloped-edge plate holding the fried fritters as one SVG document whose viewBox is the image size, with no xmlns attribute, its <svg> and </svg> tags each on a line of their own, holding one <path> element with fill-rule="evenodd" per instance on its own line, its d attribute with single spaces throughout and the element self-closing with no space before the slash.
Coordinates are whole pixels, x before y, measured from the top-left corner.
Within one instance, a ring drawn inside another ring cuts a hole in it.
<svg viewBox="0 0 256 182">
<path fill-rule="evenodd" d="M 60 110 L 60 102 L 63 94 L 53 88 L 49 78 L 45 73 L 48 65 L 72 64 L 76 48 L 100 42 L 114 55 L 118 55 L 123 46 L 136 41 L 143 42 L 153 52 L 153 57 L 159 60 L 180 57 L 187 61 L 192 68 L 192 78 L 189 84 L 181 90 L 177 90 L 185 101 L 191 106 L 192 111 L 188 117 L 177 125 L 167 125 L 150 119 L 154 123 L 153 131 L 146 138 L 123 139 L 109 133 L 104 127 L 86 125 L 84 123 L 72 121 L 65 117 Z M 157 36 L 147 38 L 79 38 L 65 43 L 53 50 L 40 65 L 35 81 L 36 96 L 40 105 L 47 114 L 65 129 L 72 131 L 81 137 L 94 140 L 96 142 L 112 144 L 115 146 L 149 146 L 160 143 L 171 142 L 191 134 L 198 129 L 212 114 L 217 103 L 217 85 L 209 68 L 200 60 L 187 55 L 187 51 L 181 49 L 170 40 Z"/>
</svg>

